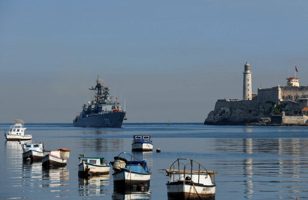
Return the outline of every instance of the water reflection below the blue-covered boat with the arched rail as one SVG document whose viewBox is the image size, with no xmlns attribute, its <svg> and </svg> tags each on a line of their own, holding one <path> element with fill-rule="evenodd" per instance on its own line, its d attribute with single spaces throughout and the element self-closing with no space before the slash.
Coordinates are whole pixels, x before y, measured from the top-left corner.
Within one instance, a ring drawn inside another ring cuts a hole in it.
<svg viewBox="0 0 308 200">
<path fill-rule="evenodd" d="M 144 200 L 151 199 L 151 190 L 148 188 L 146 191 L 131 190 L 118 190 L 114 187 L 112 199 L 114 200 Z"/>
</svg>

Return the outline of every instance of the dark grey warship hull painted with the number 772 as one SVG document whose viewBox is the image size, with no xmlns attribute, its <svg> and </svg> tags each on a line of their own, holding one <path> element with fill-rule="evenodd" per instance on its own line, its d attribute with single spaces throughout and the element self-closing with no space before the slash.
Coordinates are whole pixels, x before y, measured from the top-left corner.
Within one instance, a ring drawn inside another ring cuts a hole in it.
<svg viewBox="0 0 308 200">
<path fill-rule="evenodd" d="M 73 120 L 74 126 L 121 127 L 126 112 L 111 112 Z"/>
</svg>

